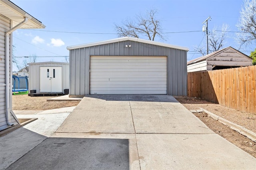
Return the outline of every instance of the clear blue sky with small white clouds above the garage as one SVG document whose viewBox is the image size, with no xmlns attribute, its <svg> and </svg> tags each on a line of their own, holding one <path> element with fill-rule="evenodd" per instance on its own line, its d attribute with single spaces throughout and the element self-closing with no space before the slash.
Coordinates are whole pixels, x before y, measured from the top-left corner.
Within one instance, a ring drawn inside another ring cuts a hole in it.
<svg viewBox="0 0 256 170">
<path fill-rule="evenodd" d="M 202 22 L 211 16 L 208 29 L 214 26 L 229 25 L 230 31 L 238 31 L 236 24 L 240 17 L 242 0 L 11 0 L 28 14 L 46 25 L 45 29 L 18 29 L 13 33 L 15 56 L 36 55 L 37 62 L 65 62 L 68 56 L 66 49 L 70 45 L 79 45 L 114 39 L 114 24 L 121 24 L 127 18 L 136 14 L 144 14 L 146 10 L 157 9 L 157 17 L 161 20 L 163 32 L 199 31 L 190 33 L 168 33 L 162 43 L 188 47 L 188 60 L 200 57 L 193 52 L 194 47 L 206 46 L 205 33 L 202 32 Z M 59 33 L 52 31 L 80 32 Z M 106 33 L 106 34 L 95 34 Z M 203 38 L 204 37 L 204 38 Z M 235 33 L 228 33 L 225 47 L 236 49 L 240 45 L 235 41 Z M 146 38 L 146 37 L 140 37 Z M 246 55 L 254 51 L 255 44 L 242 47 Z M 18 70 L 13 66 L 13 70 Z"/>
</svg>

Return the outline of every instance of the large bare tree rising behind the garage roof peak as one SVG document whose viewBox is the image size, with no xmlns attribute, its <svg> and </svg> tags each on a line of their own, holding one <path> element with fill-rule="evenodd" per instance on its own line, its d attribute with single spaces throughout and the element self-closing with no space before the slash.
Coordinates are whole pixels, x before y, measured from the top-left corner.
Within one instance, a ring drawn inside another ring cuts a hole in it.
<svg viewBox="0 0 256 170">
<path fill-rule="evenodd" d="M 115 29 L 118 37 L 135 37 L 139 38 L 141 35 L 145 35 L 149 40 L 154 41 L 158 36 L 165 40 L 162 35 L 162 27 L 160 26 L 160 20 L 156 19 L 157 10 L 147 11 L 146 16 L 137 15 L 135 20 L 126 20 L 122 25 L 115 24 Z"/>
</svg>

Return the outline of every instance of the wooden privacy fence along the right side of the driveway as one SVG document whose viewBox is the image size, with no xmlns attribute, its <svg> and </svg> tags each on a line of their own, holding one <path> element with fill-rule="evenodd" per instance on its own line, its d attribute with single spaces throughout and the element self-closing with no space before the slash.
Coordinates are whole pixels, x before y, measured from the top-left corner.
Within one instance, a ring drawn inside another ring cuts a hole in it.
<svg viewBox="0 0 256 170">
<path fill-rule="evenodd" d="M 188 97 L 256 113 L 256 66 L 188 72 Z"/>
</svg>

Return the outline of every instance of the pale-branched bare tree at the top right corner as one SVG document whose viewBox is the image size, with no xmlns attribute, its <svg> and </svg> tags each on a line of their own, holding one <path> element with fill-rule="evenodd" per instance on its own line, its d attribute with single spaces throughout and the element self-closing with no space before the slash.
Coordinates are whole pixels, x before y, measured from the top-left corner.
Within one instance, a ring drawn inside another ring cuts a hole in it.
<svg viewBox="0 0 256 170">
<path fill-rule="evenodd" d="M 244 0 L 244 6 L 240 11 L 239 22 L 236 25 L 240 33 L 237 33 L 241 45 L 250 44 L 256 40 L 256 0 Z"/>
</svg>

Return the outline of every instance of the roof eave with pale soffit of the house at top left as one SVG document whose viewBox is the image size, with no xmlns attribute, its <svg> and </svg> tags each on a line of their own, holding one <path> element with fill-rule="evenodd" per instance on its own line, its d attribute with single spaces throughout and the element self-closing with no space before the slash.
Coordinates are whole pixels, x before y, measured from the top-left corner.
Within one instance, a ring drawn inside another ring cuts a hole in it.
<svg viewBox="0 0 256 170">
<path fill-rule="evenodd" d="M 28 18 L 28 22 L 22 25 L 21 29 L 27 28 L 45 28 L 42 22 L 36 18 L 30 16 L 20 7 L 16 6 L 9 0 L 0 0 L 0 14 L 12 20 L 12 27 L 15 27 L 24 20 L 24 17 Z"/>
</svg>

